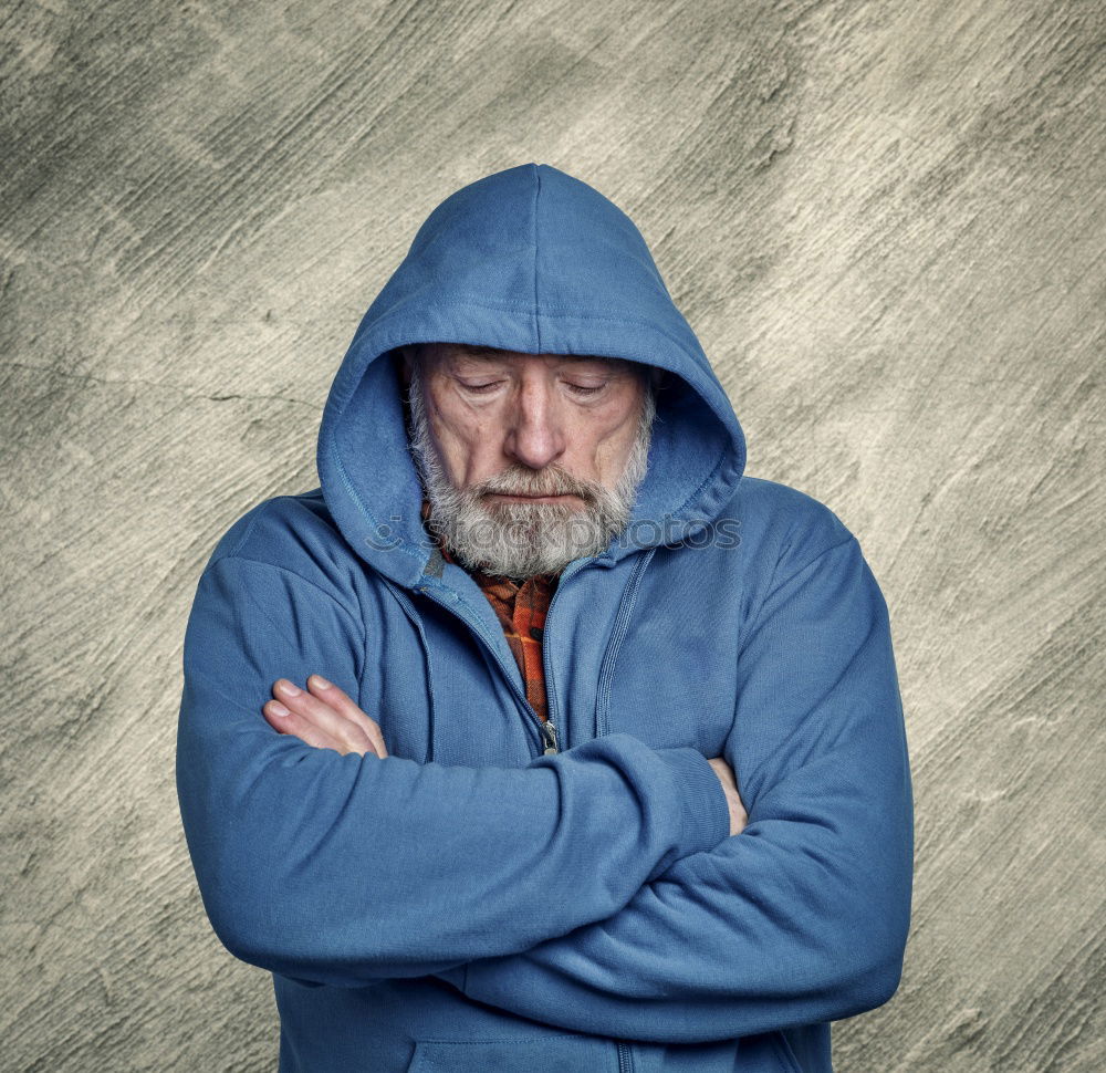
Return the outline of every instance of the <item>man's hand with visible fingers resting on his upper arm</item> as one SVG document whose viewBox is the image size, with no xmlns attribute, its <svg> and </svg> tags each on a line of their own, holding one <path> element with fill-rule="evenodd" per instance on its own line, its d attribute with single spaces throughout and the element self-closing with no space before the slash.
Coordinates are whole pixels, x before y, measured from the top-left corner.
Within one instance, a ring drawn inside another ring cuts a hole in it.
<svg viewBox="0 0 1106 1073">
<path fill-rule="evenodd" d="M 279 700 L 267 701 L 261 711 L 265 720 L 281 733 L 294 735 L 316 749 L 334 749 L 343 756 L 366 752 L 377 757 L 388 754 L 379 725 L 369 719 L 333 683 L 311 675 L 307 691 L 288 678 L 273 683 L 273 695 Z"/>
</svg>

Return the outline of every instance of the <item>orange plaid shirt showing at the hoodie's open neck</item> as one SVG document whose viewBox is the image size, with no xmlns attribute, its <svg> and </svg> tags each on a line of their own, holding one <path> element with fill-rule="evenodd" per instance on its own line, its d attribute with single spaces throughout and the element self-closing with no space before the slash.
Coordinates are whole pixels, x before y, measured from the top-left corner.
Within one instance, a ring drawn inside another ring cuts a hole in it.
<svg viewBox="0 0 1106 1073">
<path fill-rule="evenodd" d="M 430 501 L 422 499 L 422 521 L 430 517 Z M 438 540 L 441 558 L 447 563 L 466 567 L 458 563 L 441 540 Z M 542 632 L 545 629 L 545 613 L 556 590 L 559 574 L 534 574 L 518 582 L 500 574 L 486 574 L 479 570 L 468 571 L 480 586 L 488 602 L 495 611 L 508 645 L 514 654 L 522 680 L 526 685 L 526 700 L 538 712 L 542 722 L 549 720 L 545 699 L 545 669 L 542 666 Z"/>
</svg>

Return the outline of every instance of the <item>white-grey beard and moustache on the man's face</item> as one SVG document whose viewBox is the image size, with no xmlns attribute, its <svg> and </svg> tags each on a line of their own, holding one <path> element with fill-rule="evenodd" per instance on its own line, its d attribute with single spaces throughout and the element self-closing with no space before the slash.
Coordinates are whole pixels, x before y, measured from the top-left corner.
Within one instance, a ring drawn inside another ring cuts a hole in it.
<svg viewBox="0 0 1106 1073">
<path fill-rule="evenodd" d="M 629 523 L 653 436 L 651 385 L 646 385 L 637 436 L 614 488 L 573 477 L 555 462 L 540 471 L 511 466 L 471 488 L 455 488 L 430 438 L 418 362 L 409 398 L 410 451 L 431 508 L 427 525 L 467 570 L 515 581 L 557 574 L 574 559 L 602 554 Z M 489 492 L 574 494 L 584 506 L 483 499 Z"/>
</svg>

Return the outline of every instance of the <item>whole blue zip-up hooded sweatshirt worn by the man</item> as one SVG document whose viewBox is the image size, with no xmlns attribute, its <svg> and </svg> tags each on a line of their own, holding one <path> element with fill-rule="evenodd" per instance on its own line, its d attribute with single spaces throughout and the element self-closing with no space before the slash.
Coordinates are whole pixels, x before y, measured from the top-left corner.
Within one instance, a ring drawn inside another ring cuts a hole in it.
<svg viewBox="0 0 1106 1073">
<path fill-rule="evenodd" d="M 627 529 L 549 608 L 556 751 L 421 522 L 395 352 L 428 341 L 670 374 Z M 185 636 L 184 830 L 217 936 L 272 972 L 281 1073 L 830 1073 L 828 1022 L 895 992 L 914 815 L 887 606 L 836 514 L 744 461 L 609 200 L 530 164 L 429 216 L 334 378 L 320 487 L 230 527 Z M 312 673 L 390 756 L 269 726 L 273 683 Z"/>
</svg>

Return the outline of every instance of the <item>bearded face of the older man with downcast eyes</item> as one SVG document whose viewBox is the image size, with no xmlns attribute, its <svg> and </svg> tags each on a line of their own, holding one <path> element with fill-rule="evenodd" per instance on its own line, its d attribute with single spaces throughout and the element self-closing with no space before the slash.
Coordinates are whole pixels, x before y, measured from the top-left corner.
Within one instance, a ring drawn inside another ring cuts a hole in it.
<svg viewBox="0 0 1106 1073">
<path fill-rule="evenodd" d="M 647 367 L 452 343 L 403 354 L 431 522 L 469 569 L 555 573 L 625 528 L 653 424 Z"/>
</svg>

